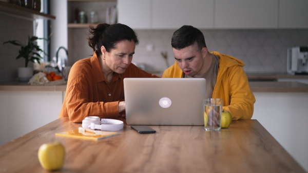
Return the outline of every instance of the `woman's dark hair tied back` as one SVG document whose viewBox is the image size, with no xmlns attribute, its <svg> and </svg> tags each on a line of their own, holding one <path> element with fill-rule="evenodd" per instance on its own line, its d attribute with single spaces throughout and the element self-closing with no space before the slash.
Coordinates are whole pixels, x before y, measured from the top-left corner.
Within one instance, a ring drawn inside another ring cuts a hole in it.
<svg viewBox="0 0 308 173">
<path fill-rule="evenodd" d="M 136 45 L 139 44 L 136 32 L 123 24 L 99 24 L 96 28 L 90 26 L 90 34 L 88 44 L 97 52 L 97 55 L 102 54 L 101 47 L 104 46 L 107 52 L 115 48 L 115 45 L 122 40 L 133 40 Z"/>
</svg>

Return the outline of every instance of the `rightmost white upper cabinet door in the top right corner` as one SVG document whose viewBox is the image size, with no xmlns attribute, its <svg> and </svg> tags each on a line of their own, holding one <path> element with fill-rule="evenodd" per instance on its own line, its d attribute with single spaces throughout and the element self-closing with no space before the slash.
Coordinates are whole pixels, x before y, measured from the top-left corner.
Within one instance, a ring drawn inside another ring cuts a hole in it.
<svg viewBox="0 0 308 173">
<path fill-rule="evenodd" d="M 279 28 L 308 28 L 307 0 L 279 0 Z"/>
</svg>

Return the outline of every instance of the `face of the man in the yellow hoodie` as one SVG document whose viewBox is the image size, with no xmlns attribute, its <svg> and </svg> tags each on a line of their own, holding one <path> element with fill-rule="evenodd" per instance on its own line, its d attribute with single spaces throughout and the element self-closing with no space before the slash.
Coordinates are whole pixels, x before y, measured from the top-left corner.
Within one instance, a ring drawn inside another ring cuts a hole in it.
<svg viewBox="0 0 308 173">
<path fill-rule="evenodd" d="M 204 70 L 204 58 L 207 53 L 207 49 L 203 48 L 201 51 L 198 49 L 197 43 L 190 45 L 181 50 L 172 48 L 175 58 L 187 76 L 194 77 L 195 75 L 202 75 Z"/>
</svg>

